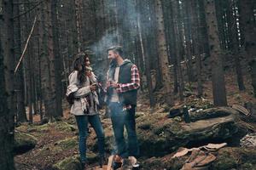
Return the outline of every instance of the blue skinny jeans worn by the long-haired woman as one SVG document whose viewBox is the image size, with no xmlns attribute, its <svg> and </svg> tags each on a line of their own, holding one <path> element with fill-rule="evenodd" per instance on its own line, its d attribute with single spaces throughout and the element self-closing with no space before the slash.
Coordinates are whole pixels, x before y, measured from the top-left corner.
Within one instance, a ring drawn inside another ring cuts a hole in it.
<svg viewBox="0 0 256 170">
<path fill-rule="evenodd" d="M 105 137 L 102 122 L 99 115 L 94 116 L 75 116 L 79 127 L 79 152 L 81 161 L 86 161 L 86 139 L 88 135 L 88 122 L 94 128 L 98 139 L 98 150 L 100 156 L 104 156 Z"/>
</svg>

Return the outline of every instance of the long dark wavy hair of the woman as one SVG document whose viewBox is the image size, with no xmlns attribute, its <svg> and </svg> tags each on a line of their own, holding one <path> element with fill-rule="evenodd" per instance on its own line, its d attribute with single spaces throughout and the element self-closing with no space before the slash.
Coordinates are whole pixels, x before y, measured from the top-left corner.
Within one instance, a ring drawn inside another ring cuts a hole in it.
<svg viewBox="0 0 256 170">
<path fill-rule="evenodd" d="M 86 81 L 85 78 L 85 62 L 86 62 L 86 58 L 89 58 L 89 55 L 86 53 L 79 53 L 76 55 L 76 59 L 73 62 L 73 70 L 74 71 L 79 71 L 78 74 L 78 79 L 79 79 L 79 83 L 82 84 L 83 82 Z M 80 67 L 82 67 L 82 69 L 80 70 Z"/>
</svg>

